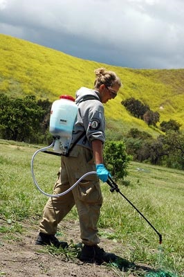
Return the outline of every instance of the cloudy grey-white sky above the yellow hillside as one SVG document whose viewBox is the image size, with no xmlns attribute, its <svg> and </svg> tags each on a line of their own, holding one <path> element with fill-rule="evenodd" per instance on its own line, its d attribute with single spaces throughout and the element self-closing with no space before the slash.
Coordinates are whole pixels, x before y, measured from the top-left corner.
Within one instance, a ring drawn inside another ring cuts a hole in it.
<svg viewBox="0 0 184 277">
<path fill-rule="evenodd" d="M 184 0 L 0 0 L 0 33 L 115 66 L 184 68 Z"/>
</svg>

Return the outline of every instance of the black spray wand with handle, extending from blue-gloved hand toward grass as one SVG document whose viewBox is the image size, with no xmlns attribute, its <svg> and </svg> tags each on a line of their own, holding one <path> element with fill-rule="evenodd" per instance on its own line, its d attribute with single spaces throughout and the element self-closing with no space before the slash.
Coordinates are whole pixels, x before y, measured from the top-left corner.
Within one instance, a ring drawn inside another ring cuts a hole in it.
<svg viewBox="0 0 184 277">
<path fill-rule="evenodd" d="M 120 195 L 122 195 L 122 197 L 124 197 L 127 200 L 127 202 L 129 202 L 129 204 L 131 204 L 131 206 L 133 206 L 133 208 L 135 208 L 135 210 L 144 218 L 144 220 L 149 224 L 149 226 L 151 226 L 151 228 L 154 229 L 154 231 L 157 233 L 157 235 L 159 237 L 159 243 L 161 244 L 162 243 L 162 235 L 160 233 L 158 233 L 158 231 L 155 229 L 155 227 L 149 222 L 149 220 L 147 220 L 145 215 L 142 215 L 142 213 L 140 213 L 140 211 L 138 211 L 138 208 L 136 208 L 136 206 L 134 206 L 134 204 L 132 204 L 129 201 L 129 199 L 127 199 L 127 197 L 120 192 L 118 185 L 115 183 L 115 181 L 113 181 L 113 179 L 111 179 L 111 177 L 109 177 L 109 179 L 107 179 L 107 184 L 111 187 L 111 189 L 110 189 L 111 193 L 113 193 L 114 190 L 116 190 L 117 193 L 120 193 Z"/>
</svg>

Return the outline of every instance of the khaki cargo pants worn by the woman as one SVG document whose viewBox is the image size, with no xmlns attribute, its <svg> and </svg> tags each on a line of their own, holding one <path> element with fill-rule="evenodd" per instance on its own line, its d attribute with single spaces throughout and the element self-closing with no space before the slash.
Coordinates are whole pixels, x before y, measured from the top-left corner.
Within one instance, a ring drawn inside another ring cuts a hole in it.
<svg viewBox="0 0 184 277">
<path fill-rule="evenodd" d="M 95 171 L 91 150 L 75 145 L 70 157 L 62 156 L 61 168 L 55 183 L 54 193 L 59 194 L 70 188 L 86 172 Z M 62 197 L 50 197 L 44 207 L 39 231 L 54 235 L 57 224 L 76 205 L 80 220 L 81 239 L 84 244 L 98 244 L 97 224 L 102 206 L 102 193 L 97 175 L 88 175 L 85 179 Z"/>
</svg>

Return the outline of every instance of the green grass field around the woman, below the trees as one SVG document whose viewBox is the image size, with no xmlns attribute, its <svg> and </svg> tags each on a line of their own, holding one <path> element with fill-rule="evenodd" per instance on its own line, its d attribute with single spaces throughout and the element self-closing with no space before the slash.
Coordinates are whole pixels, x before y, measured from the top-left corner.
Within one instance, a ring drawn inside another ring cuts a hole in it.
<svg viewBox="0 0 184 277">
<path fill-rule="evenodd" d="M 37 224 L 47 197 L 35 188 L 30 173 L 30 160 L 38 146 L 3 140 L 0 145 L 0 213 L 9 223 L 1 226 L 0 233 L 10 240 L 14 232 L 23 232 L 21 222 Z M 35 158 L 35 177 L 47 193 L 52 193 L 57 168 L 58 157 L 39 153 Z M 156 232 L 119 193 L 111 193 L 107 184 L 102 184 L 100 235 L 117 242 L 117 253 L 131 262 L 163 267 L 183 276 L 184 172 L 135 162 L 128 171 L 129 186 L 119 184 L 120 191 L 163 235 L 162 249 L 158 249 Z M 75 208 L 66 220 L 70 218 L 77 220 Z"/>
</svg>

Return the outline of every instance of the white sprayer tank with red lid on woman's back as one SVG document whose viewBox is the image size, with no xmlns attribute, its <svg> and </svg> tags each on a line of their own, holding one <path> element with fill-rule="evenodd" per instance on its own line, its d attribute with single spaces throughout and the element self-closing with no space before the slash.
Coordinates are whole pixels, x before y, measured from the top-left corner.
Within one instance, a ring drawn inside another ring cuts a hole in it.
<svg viewBox="0 0 184 277">
<path fill-rule="evenodd" d="M 66 154 L 71 143 L 78 109 L 74 101 L 72 96 L 62 95 L 51 107 L 49 132 L 57 138 L 54 145 L 57 153 Z"/>
</svg>

